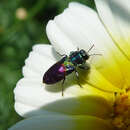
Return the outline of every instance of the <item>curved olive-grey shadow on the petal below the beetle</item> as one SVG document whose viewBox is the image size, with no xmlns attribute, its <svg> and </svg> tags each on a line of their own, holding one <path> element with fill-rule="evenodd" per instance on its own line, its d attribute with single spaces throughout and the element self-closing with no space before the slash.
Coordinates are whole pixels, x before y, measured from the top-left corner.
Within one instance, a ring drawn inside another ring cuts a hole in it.
<svg viewBox="0 0 130 130">
<path fill-rule="evenodd" d="M 82 96 L 76 98 L 66 98 L 46 104 L 37 110 L 25 113 L 25 117 L 46 115 L 48 113 L 60 113 L 65 115 L 91 115 L 103 119 L 109 118 L 112 107 L 108 102 L 98 96 Z"/>
</svg>

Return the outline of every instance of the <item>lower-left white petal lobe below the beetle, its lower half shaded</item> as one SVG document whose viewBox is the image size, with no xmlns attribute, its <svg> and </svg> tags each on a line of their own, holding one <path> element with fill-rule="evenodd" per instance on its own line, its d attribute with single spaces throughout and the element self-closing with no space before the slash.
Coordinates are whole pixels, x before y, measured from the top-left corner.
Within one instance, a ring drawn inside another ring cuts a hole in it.
<svg viewBox="0 0 130 130">
<path fill-rule="evenodd" d="M 111 106 L 105 100 L 105 96 L 109 96 L 107 93 L 104 96 L 105 93 L 91 89 L 90 86 L 88 89 L 81 89 L 79 86 L 71 85 L 65 89 L 64 96 L 62 96 L 61 86 L 51 87 L 45 88 L 42 82 L 36 79 L 20 80 L 14 90 L 17 113 L 24 117 L 60 112 L 70 115 L 94 115 L 102 118 L 111 113 Z"/>
</svg>

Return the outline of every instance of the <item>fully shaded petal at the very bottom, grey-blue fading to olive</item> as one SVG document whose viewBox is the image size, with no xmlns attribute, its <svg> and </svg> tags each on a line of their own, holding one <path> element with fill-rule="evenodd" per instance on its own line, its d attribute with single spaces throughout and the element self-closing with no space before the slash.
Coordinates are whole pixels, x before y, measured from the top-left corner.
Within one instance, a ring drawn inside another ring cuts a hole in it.
<svg viewBox="0 0 130 130">
<path fill-rule="evenodd" d="M 9 130 L 113 130 L 110 124 L 92 116 L 48 115 L 28 118 Z"/>
</svg>

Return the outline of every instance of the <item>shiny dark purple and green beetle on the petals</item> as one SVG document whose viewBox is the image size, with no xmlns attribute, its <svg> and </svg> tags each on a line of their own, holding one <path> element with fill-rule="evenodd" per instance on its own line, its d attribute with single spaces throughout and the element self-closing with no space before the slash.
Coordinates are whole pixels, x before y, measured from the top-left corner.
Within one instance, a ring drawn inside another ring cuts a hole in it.
<svg viewBox="0 0 130 130">
<path fill-rule="evenodd" d="M 45 84 L 55 84 L 62 80 L 62 96 L 63 96 L 63 84 L 66 79 L 66 76 L 75 72 L 77 80 L 79 80 L 79 74 L 77 68 L 89 69 L 89 65 L 86 65 L 86 60 L 89 59 L 91 54 L 88 52 L 93 48 L 94 45 L 86 52 L 85 50 L 77 50 L 70 52 L 69 56 L 64 55 L 61 60 L 52 65 L 43 76 L 43 83 Z M 78 83 L 79 84 L 79 83 Z M 80 87 L 82 87 L 79 84 Z"/>
</svg>

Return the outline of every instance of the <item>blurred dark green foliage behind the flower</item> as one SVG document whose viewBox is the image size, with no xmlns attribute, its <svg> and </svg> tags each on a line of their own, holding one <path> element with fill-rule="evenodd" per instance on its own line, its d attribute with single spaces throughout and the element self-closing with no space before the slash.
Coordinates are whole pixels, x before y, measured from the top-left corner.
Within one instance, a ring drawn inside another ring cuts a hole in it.
<svg viewBox="0 0 130 130">
<path fill-rule="evenodd" d="M 14 110 L 13 89 L 22 77 L 24 60 L 34 44 L 49 44 L 46 24 L 70 1 L 0 0 L 0 130 L 22 119 Z M 93 0 L 75 1 L 95 7 Z M 19 8 L 25 9 L 27 17 L 16 16 Z"/>
</svg>

